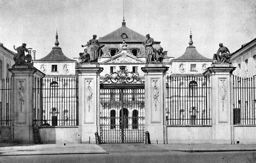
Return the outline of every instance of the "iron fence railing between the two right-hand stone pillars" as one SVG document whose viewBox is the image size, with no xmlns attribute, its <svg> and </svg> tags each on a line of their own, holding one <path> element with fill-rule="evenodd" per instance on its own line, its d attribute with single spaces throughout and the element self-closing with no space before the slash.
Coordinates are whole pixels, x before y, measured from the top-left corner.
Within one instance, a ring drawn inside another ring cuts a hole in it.
<svg viewBox="0 0 256 163">
<path fill-rule="evenodd" d="M 166 79 L 166 124 L 211 125 L 209 77 L 167 76 Z"/>
</svg>

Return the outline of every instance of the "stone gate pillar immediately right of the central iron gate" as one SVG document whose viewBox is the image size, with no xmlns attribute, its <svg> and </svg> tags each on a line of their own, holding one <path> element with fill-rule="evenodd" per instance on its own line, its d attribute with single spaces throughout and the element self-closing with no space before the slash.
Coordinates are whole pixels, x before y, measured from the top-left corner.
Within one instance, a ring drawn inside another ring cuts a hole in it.
<svg viewBox="0 0 256 163">
<path fill-rule="evenodd" d="M 145 131 L 149 132 L 151 143 L 166 142 L 165 64 L 147 64 L 145 72 Z"/>
</svg>

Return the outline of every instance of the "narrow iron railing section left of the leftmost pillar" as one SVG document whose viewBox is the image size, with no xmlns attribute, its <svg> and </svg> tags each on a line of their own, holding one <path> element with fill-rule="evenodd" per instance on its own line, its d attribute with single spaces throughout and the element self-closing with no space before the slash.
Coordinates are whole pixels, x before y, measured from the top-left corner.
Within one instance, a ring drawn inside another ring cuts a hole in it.
<svg viewBox="0 0 256 163">
<path fill-rule="evenodd" d="M 11 126 L 11 80 L 0 79 L 0 126 Z"/>
</svg>

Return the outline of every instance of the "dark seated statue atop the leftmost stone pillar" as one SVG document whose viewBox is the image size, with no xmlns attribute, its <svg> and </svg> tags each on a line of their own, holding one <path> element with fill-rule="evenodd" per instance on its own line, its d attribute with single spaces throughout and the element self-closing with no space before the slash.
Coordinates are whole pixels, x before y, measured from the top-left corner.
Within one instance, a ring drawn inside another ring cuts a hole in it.
<svg viewBox="0 0 256 163">
<path fill-rule="evenodd" d="M 16 54 L 14 54 L 14 61 L 16 66 L 22 66 L 22 65 L 30 65 L 32 61 L 32 56 L 30 54 L 27 54 L 25 56 L 25 52 L 28 52 L 28 49 L 26 48 L 27 44 L 22 43 L 22 46 L 15 48 L 15 51 L 17 51 Z M 26 61 L 27 60 L 27 61 Z"/>
</svg>

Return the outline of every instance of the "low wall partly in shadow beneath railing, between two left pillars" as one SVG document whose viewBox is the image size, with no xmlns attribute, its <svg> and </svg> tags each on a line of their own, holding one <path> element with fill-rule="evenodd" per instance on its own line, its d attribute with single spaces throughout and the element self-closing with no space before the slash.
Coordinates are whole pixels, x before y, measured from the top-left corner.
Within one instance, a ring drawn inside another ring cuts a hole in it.
<svg viewBox="0 0 256 163">
<path fill-rule="evenodd" d="M 43 142 L 78 143 L 78 127 L 39 127 Z"/>
</svg>

